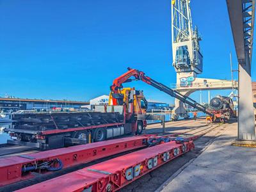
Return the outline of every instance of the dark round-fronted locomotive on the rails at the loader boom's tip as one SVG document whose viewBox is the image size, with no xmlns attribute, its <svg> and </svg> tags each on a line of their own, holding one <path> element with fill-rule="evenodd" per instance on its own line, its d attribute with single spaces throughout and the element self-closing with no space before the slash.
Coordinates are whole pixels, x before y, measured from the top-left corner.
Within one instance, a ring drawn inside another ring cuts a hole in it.
<svg viewBox="0 0 256 192">
<path fill-rule="evenodd" d="M 215 118 L 220 119 L 221 122 L 229 120 L 230 117 L 234 116 L 234 104 L 230 97 L 219 95 L 212 98 L 209 108 Z"/>
</svg>

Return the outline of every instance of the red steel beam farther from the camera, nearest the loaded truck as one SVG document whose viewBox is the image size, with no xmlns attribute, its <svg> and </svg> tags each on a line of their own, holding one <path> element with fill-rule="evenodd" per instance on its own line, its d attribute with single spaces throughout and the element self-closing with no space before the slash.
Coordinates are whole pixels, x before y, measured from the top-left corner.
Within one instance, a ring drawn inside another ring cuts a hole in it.
<svg viewBox="0 0 256 192">
<path fill-rule="evenodd" d="M 33 177 L 31 172 L 22 175 L 22 167 L 38 164 L 40 161 L 60 159 L 63 168 L 95 159 L 111 156 L 135 148 L 145 147 L 149 136 L 132 136 L 116 140 L 100 141 L 68 148 L 58 148 L 44 152 L 28 154 L 25 157 L 13 156 L 0 159 L 0 186 Z M 29 159 L 30 158 L 30 159 Z"/>
</svg>

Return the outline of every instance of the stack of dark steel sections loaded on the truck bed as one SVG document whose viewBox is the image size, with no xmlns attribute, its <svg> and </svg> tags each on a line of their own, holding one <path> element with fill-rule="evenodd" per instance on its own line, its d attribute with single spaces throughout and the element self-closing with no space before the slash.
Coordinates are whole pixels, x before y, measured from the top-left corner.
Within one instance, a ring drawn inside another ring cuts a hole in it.
<svg viewBox="0 0 256 192">
<path fill-rule="evenodd" d="M 124 121 L 120 113 L 29 113 L 14 114 L 14 129 L 47 131 L 52 129 L 70 129 L 91 125 L 115 124 Z"/>
</svg>

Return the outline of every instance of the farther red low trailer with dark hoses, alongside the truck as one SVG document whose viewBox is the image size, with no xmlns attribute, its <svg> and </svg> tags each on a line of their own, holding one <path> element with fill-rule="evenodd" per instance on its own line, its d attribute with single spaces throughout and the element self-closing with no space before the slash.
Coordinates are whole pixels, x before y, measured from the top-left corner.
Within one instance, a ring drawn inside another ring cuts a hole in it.
<svg viewBox="0 0 256 192">
<path fill-rule="evenodd" d="M 0 159 L 0 187 L 20 180 L 32 179 L 35 175 L 36 177 L 45 173 L 49 175 L 54 171 L 78 164 L 88 163 L 122 152 L 150 147 L 159 138 L 168 138 L 170 140 L 170 138 L 174 139 L 179 135 L 179 133 L 175 133 L 164 136 L 154 134 L 132 136 L 44 152 L 33 152 L 26 155 L 2 157 Z M 195 140 L 196 137 L 182 135 L 182 138 L 186 140 Z"/>
</svg>

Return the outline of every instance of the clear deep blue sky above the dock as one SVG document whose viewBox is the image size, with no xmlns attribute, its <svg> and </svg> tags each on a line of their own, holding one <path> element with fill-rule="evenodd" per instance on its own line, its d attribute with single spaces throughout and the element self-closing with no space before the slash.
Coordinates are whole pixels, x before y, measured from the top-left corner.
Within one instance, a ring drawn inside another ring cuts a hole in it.
<svg viewBox="0 0 256 192">
<path fill-rule="evenodd" d="M 199 77 L 230 79 L 230 51 L 237 61 L 226 1 L 193 0 L 191 12 L 203 36 Z M 0 66 L 2 97 L 89 100 L 108 94 L 127 67 L 170 85 L 170 0 L 0 0 Z M 173 102 L 147 84 L 129 85 L 147 99 Z"/>
</svg>

